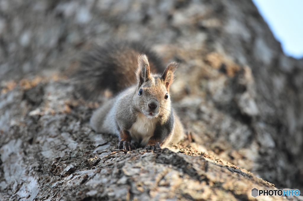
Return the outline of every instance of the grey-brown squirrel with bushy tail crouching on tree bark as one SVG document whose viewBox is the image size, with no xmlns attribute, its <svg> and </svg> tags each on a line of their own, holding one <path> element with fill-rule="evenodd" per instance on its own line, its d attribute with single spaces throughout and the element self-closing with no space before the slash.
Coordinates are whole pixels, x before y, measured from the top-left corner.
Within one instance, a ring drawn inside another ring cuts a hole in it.
<svg viewBox="0 0 303 201">
<path fill-rule="evenodd" d="M 139 146 L 154 151 L 185 135 L 169 93 L 177 62 L 164 68 L 161 59 L 142 43 L 120 41 L 98 46 L 81 64 L 80 78 L 89 82 L 82 85 L 86 96 L 105 89 L 121 91 L 90 120 L 95 132 L 118 135 L 119 149 Z"/>
</svg>

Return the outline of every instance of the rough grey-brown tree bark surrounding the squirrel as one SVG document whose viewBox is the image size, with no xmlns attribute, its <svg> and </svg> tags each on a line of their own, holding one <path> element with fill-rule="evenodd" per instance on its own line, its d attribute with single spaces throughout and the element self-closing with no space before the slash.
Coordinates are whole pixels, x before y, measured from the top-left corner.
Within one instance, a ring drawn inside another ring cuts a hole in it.
<svg viewBox="0 0 303 201">
<path fill-rule="evenodd" d="M 125 154 L 92 131 L 108 94 L 83 101 L 67 76 L 109 39 L 143 40 L 180 62 L 171 92 L 195 143 Z M 303 191 L 302 68 L 249 0 L 0 0 L 0 200 L 252 200 L 252 188 L 271 183 Z"/>
</svg>

